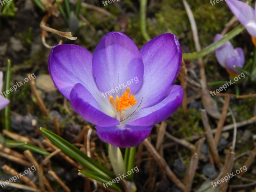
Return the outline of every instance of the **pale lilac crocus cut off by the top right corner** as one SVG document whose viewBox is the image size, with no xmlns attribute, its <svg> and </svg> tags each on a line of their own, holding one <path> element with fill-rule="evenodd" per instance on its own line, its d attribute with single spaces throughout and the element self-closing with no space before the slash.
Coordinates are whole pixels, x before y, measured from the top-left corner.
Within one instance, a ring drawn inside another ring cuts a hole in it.
<svg viewBox="0 0 256 192">
<path fill-rule="evenodd" d="M 252 36 L 252 42 L 256 46 L 256 14 L 248 4 L 238 0 L 226 0 L 228 7 Z M 255 4 L 256 8 L 256 4 Z"/>
</svg>

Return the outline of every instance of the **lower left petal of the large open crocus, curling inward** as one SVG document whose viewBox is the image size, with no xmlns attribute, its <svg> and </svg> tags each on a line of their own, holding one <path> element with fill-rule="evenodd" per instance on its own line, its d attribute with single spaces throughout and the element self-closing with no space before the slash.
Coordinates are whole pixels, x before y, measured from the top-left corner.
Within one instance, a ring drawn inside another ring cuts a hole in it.
<svg viewBox="0 0 256 192">
<path fill-rule="evenodd" d="M 92 124 L 103 127 L 110 127 L 119 124 L 117 119 L 100 111 L 97 101 L 82 84 L 76 84 L 71 90 L 70 103 L 76 113 Z"/>
</svg>

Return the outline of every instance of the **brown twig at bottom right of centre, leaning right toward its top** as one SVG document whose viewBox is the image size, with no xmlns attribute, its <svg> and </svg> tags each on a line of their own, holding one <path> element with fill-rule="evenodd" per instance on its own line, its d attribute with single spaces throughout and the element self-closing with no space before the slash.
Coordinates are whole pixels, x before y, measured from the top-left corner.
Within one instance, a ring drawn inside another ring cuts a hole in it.
<svg viewBox="0 0 256 192">
<path fill-rule="evenodd" d="M 202 138 L 196 142 L 196 150 L 195 150 L 194 154 L 192 155 L 191 160 L 189 162 L 189 167 L 186 171 L 186 174 L 185 174 L 185 177 L 183 180 L 183 183 L 186 187 L 187 192 L 191 191 L 193 179 L 196 174 L 196 169 L 197 169 L 198 162 L 199 162 L 199 156 L 201 155 L 201 149 L 203 147 L 204 141 L 205 141 L 205 138 Z"/>
</svg>

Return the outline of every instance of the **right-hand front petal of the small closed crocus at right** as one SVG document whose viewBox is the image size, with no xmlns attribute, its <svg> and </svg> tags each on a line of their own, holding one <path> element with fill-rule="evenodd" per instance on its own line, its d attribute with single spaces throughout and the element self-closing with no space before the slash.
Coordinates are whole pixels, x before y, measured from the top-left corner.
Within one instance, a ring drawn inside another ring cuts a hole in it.
<svg viewBox="0 0 256 192">
<path fill-rule="evenodd" d="M 239 68 L 244 67 L 244 51 L 240 47 L 236 48 L 234 53 L 226 59 L 227 69 L 239 73 L 239 71 L 234 68 L 234 65 Z"/>
</svg>

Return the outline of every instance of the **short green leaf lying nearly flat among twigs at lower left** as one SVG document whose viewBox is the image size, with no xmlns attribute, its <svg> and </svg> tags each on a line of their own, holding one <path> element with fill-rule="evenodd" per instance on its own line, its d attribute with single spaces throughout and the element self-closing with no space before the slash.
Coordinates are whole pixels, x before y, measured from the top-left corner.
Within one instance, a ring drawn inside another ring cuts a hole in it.
<svg viewBox="0 0 256 192">
<path fill-rule="evenodd" d="M 9 148 L 28 149 L 30 151 L 34 151 L 42 155 L 51 155 L 49 152 L 45 151 L 44 149 L 41 149 L 39 147 L 36 147 L 35 145 L 29 144 L 27 142 L 22 142 L 22 141 L 5 140 L 4 146 Z"/>
</svg>

